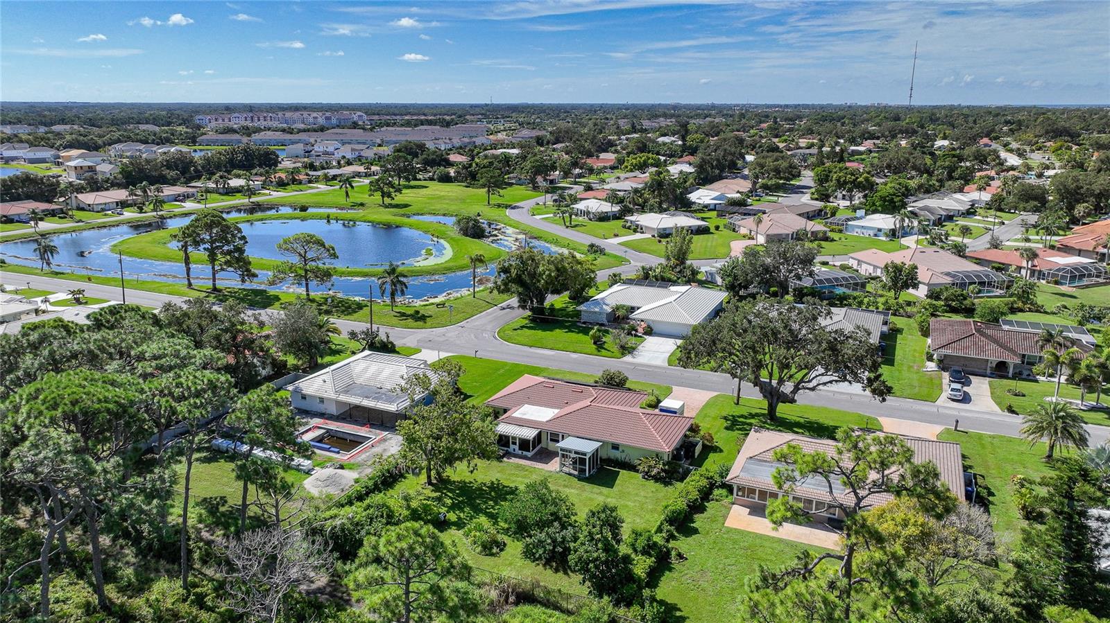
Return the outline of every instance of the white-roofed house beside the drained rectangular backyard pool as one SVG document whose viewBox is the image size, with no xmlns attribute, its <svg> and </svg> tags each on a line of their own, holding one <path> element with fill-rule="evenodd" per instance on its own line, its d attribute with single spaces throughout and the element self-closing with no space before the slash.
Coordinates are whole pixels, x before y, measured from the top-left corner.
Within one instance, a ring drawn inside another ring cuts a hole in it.
<svg viewBox="0 0 1110 623">
<path fill-rule="evenodd" d="M 367 350 L 294 381 L 287 389 L 295 409 L 396 426 L 412 406 L 401 385 L 420 374 L 434 378 L 438 372 L 422 359 Z"/>
</svg>

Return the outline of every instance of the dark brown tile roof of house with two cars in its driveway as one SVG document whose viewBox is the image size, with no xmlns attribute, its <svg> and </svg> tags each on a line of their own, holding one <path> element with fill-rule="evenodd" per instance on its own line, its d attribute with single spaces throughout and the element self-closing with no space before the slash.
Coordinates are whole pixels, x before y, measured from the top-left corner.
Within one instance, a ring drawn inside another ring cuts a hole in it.
<svg viewBox="0 0 1110 623">
<path fill-rule="evenodd" d="M 1040 334 L 965 318 L 934 318 L 929 323 L 930 349 L 939 355 L 1020 362 L 1025 355 L 1040 355 Z M 1069 338 L 1070 340 L 1070 338 Z M 1091 348 L 1076 340 L 1082 351 Z"/>
</svg>

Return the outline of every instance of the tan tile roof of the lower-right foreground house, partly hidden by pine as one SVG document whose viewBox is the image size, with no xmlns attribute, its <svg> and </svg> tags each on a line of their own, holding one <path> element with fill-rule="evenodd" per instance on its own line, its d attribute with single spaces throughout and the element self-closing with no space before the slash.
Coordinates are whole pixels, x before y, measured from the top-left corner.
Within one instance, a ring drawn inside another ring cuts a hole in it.
<svg viewBox="0 0 1110 623">
<path fill-rule="evenodd" d="M 874 435 L 894 435 L 889 432 L 874 432 Z M 963 499 L 963 462 L 960 455 L 960 445 L 953 441 L 935 441 L 920 437 L 898 436 L 914 450 L 914 462 L 924 463 L 931 461 L 940 471 L 940 481 L 948 487 L 948 490 L 957 499 Z M 836 458 L 836 441 L 830 439 L 818 439 L 805 437 L 789 432 L 775 430 L 764 430 L 755 427 L 744 441 L 733 468 L 728 472 L 726 482 L 739 484 L 741 487 L 756 487 L 767 490 L 777 490 L 770 473 L 783 463 L 774 460 L 774 452 L 778 448 L 786 447 L 787 443 L 795 443 L 806 452 L 825 452 Z M 748 462 L 751 467 L 759 469 L 745 470 Z M 743 472 L 743 473 L 741 473 Z M 816 478 L 803 481 L 795 490 L 795 494 L 816 499 L 829 500 L 829 489 L 824 480 Z M 852 503 L 854 499 L 848 493 L 837 493 L 837 499 L 846 503 Z M 880 505 L 894 499 L 890 494 L 872 496 L 870 500 L 874 505 Z"/>
</svg>

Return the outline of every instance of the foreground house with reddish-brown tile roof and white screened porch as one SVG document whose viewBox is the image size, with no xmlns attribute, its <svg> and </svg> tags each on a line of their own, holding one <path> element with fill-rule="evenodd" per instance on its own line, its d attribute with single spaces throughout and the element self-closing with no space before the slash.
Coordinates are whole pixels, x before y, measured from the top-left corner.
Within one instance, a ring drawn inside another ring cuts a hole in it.
<svg viewBox="0 0 1110 623">
<path fill-rule="evenodd" d="M 524 375 L 486 401 L 498 416 L 497 445 L 514 455 L 558 453 L 559 471 L 592 476 L 602 459 L 685 460 L 692 416 L 642 409 L 643 391 Z"/>
</svg>

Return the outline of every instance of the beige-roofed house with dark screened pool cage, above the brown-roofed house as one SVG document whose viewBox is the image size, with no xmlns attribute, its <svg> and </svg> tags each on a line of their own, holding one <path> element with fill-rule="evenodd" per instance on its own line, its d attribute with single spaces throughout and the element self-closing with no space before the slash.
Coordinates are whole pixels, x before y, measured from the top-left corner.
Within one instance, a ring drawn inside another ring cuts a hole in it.
<svg viewBox="0 0 1110 623">
<path fill-rule="evenodd" d="M 968 289 L 971 285 L 980 288 L 985 296 L 1003 294 L 1013 278 L 983 268 L 973 262 L 932 247 L 912 247 L 896 253 L 868 248 L 848 255 L 848 266 L 866 276 L 882 276 L 882 267 L 889 262 L 900 262 L 917 266 L 918 286 L 909 293 L 925 298 L 930 290 L 944 286 Z"/>
</svg>

